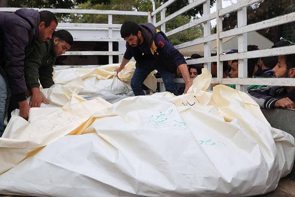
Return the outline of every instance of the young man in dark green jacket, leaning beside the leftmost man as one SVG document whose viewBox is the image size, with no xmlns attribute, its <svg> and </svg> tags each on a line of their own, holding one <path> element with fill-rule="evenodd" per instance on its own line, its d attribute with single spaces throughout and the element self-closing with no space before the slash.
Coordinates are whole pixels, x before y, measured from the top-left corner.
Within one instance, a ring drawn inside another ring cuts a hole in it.
<svg viewBox="0 0 295 197">
<path fill-rule="evenodd" d="M 70 32 L 58 30 L 51 40 L 35 45 L 30 56 L 25 59 L 24 76 L 29 92 L 27 96 L 32 95 L 30 107 L 40 107 L 42 102 L 48 104 L 40 92 L 38 79 L 43 88 L 50 88 L 54 84 L 52 73 L 56 58 L 65 54 L 73 44 Z"/>
</svg>

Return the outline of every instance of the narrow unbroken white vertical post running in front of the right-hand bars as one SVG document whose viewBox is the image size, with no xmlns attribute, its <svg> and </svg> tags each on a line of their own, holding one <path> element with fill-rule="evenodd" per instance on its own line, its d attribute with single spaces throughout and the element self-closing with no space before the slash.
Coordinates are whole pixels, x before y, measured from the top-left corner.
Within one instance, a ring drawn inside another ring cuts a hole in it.
<svg viewBox="0 0 295 197">
<path fill-rule="evenodd" d="M 220 55 L 222 54 L 222 39 L 219 39 L 219 33 L 222 32 L 222 16 L 219 16 L 219 12 L 222 9 L 222 0 L 216 1 L 216 32 L 217 33 L 217 83 L 221 82 L 223 77 L 223 62 L 220 61 Z"/>
</svg>

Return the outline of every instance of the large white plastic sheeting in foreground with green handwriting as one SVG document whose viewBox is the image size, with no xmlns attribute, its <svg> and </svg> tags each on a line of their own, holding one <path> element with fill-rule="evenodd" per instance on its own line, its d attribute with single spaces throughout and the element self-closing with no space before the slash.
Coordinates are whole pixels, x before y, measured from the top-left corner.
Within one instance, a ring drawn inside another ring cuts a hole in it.
<svg viewBox="0 0 295 197">
<path fill-rule="evenodd" d="M 253 99 L 203 70 L 188 94 L 110 104 L 72 94 L 13 116 L 0 138 L 0 193 L 29 196 L 251 196 L 293 166 L 294 138 Z M 74 91 L 73 91 L 74 92 Z"/>
</svg>

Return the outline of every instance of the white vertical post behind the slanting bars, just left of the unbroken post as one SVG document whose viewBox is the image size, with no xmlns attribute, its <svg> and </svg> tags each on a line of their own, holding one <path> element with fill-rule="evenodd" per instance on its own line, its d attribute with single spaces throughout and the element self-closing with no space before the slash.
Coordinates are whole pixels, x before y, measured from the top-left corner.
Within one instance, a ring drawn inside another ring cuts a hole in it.
<svg viewBox="0 0 295 197">
<path fill-rule="evenodd" d="M 210 0 L 203 3 L 203 16 L 210 14 Z M 204 22 L 204 37 L 210 36 L 211 34 L 211 22 Z M 211 56 L 211 42 L 204 42 L 204 58 Z M 204 68 L 206 68 L 211 73 L 211 62 L 204 63 Z"/>
</svg>

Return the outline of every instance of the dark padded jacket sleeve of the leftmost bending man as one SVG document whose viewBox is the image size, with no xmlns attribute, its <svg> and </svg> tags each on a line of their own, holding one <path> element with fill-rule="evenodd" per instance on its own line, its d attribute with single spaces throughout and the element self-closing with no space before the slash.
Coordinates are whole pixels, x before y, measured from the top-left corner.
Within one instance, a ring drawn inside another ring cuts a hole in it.
<svg viewBox="0 0 295 197">
<path fill-rule="evenodd" d="M 30 30 L 22 22 L 7 24 L 3 28 L 5 72 L 12 97 L 16 101 L 26 100 L 24 79 L 25 47 L 29 42 Z"/>
</svg>

